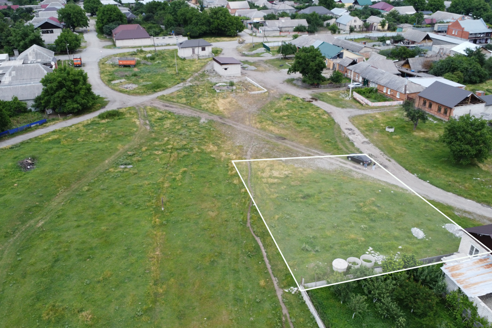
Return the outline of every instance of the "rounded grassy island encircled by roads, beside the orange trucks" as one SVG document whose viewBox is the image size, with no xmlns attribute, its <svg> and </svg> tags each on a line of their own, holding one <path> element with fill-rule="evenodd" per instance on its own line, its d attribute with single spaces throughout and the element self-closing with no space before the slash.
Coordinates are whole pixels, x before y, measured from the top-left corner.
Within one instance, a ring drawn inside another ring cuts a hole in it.
<svg viewBox="0 0 492 328">
<path fill-rule="evenodd" d="M 153 54 L 152 57 L 146 57 L 147 54 Z M 101 79 L 111 89 L 133 95 L 144 95 L 158 91 L 162 91 L 173 87 L 197 73 L 205 64 L 212 58 L 206 59 L 181 59 L 176 56 L 175 50 L 158 50 L 157 54 L 154 51 L 139 51 L 127 52 L 118 54 L 118 57 L 137 57 L 146 60 L 151 65 L 142 64 L 141 60 L 137 60 L 135 68 L 123 67 L 118 65 L 106 64 L 110 57 L 105 57 L 99 61 L 99 69 Z M 176 74 L 176 65 L 178 74 Z M 122 83 L 112 84 L 111 81 L 125 79 Z M 121 88 L 122 85 L 135 84 L 138 87 L 129 90 Z"/>
</svg>

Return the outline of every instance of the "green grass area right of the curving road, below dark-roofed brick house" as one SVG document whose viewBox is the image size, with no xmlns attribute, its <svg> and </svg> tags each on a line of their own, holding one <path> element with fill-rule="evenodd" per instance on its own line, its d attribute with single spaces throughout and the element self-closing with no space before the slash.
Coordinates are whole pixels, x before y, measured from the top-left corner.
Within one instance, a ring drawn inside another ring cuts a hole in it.
<svg viewBox="0 0 492 328">
<path fill-rule="evenodd" d="M 450 161 L 447 146 L 438 140 L 445 122 L 433 119 L 415 131 L 401 110 L 354 116 L 352 122 L 408 172 L 445 191 L 492 205 L 492 159 L 467 166 Z M 395 132 L 386 132 L 386 126 L 394 126 Z"/>
</svg>

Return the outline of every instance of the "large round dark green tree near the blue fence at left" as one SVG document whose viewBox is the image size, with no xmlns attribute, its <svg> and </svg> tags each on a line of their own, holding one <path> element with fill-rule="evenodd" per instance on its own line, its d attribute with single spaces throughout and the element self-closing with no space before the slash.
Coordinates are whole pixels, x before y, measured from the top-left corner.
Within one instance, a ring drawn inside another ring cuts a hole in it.
<svg viewBox="0 0 492 328">
<path fill-rule="evenodd" d="M 40 109 L 76 113 L 94 105 L 97 96 L 87 82 L 87 73 L 73 67 L 59 67 L 41 79 L 43 91 L 34 100 Z"/>
</svg>

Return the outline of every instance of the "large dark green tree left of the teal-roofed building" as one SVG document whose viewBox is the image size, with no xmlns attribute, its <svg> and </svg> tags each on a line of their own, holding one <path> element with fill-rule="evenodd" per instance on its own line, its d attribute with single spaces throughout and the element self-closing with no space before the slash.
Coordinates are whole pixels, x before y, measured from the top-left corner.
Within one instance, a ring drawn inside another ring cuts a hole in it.
<svg viewBox="0 0 492 328">
<path fill-rule="evenodd" d="M 287 74 L 301 73 L 302 81 L 306 84 L 317 84 L 325 80 L 321 72 L 326 67 L 324 56 L 319 49 L 311 47 L 302 47 L 296 53 L 294 64 L 289 68 Z"/>
</svg>

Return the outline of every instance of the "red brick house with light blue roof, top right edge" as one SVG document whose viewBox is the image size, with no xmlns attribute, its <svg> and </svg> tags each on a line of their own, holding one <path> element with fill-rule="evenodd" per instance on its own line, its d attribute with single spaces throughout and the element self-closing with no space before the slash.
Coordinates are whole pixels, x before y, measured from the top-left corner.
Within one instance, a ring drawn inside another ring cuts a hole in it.
<svg viewBox="0 0 492 328">
<path fill-rule="evenodd" d="M 456 20 L 449 24 L 446 34 L 452 37 L 458 37 L 474 44 L 490 43 L 490 30 L 483 21 L 479 19 Z"/>
</svg>

